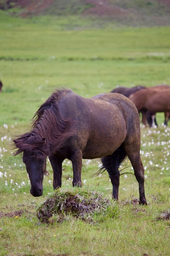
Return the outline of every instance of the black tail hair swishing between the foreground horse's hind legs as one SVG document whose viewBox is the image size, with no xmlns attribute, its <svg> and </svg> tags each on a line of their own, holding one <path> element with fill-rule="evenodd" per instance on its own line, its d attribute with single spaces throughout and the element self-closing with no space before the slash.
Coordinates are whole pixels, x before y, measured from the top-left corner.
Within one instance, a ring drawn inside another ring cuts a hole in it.
<svg viewBox="0 0 170 256">
<path fill-rule="evenodd" d="M 123 146 L 121 145 L 119 148 L 115 150 L 115 152 L 113 152 L 112 155 L 102 157 L 102 166 L 97 172 L 97 175 L 103 173 L 106 170 L 109 174 L 113 173 L 114 171 L 117 171 L 120 164 L 123 162 L 126 156 L 127 154 Z"/>
</svg>

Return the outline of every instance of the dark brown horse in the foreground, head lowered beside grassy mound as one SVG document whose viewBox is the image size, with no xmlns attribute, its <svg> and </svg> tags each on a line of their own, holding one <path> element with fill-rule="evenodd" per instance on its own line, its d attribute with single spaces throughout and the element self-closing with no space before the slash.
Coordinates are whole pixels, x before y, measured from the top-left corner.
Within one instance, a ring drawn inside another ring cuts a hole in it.
<svg viewBox="0 0 170 256">
<path fill-rule="evenodd" d="M 42 195 L 47 156 L 54 189 L 61 187 L 64 159 L 72 162 L 73 186 L 81 187 L 82 158 L 101 157 L 101 170 L 107 170 L 113 198 L 118 200 L 118 168 L 128 156 L 139 183 L 140 204 L 146 204 L 139 115 L 133 102 L 121 94 L 85 99 L 71 90 L 56 90 L 36 112 L 31 131 L 13 141 L 18 149 L 15 155 L 23 153 L 33 196 Z"/>
</svg>

